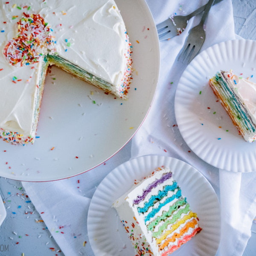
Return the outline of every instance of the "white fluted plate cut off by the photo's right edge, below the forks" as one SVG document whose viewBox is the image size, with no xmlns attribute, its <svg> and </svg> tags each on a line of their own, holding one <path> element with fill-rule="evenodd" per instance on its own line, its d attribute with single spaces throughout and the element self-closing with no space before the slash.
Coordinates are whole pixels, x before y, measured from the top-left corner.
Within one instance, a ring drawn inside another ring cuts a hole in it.
<svg viewBox="0 0 256 256">
<path fill-rule="evenodd" d="M 219 70 L 230 69 L 256 82 L 254 68 L 256 42 L 233 40 L 201 52 L 180 78 L 175 96 L 180 133 L 195 154 L 215 167 L 233 172 L 256 171 L 256 143 L 239 136 L 208 84 Z"/>
</svg>

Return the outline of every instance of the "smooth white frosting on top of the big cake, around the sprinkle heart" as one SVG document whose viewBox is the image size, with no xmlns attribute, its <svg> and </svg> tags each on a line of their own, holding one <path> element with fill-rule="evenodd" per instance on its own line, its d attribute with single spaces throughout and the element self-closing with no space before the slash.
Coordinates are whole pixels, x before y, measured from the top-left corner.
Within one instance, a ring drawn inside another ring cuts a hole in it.
<svg viewBox="0 0 256 256">
<path fill-rule="evenodd" d="M 61 57 L 118 90 L 126 70 L 128 43 L 125 24 L 113 0 L 16 0 L 15 4 L 0 0 L 0 31 L 4 31 L 0 32 L 0 128 L 35 136 L 32 124 L 42 63 L 13 67 L 3 54 L 6 43 L 17 36 L 17 21 L 23 12 L 40 14 L 49 23 Z M 12 19 L 14 16 L 18 17 Z M 14 76 L 22 81 L 13 83 Z"/>
</svg>

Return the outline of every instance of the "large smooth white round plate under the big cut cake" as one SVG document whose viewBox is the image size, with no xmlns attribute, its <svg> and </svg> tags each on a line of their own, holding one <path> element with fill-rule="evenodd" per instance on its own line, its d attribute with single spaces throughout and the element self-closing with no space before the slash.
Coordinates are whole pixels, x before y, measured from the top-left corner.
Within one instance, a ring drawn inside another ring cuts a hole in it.
<svg viewBox="0 0 256 256">
<path fill-rule="evenodd" d="M 50 75 L 56 80 L 47 76 L 37 132 L 40 138 L 24 147 L 0 140 L 0 176 L 48 181 L 78 175 L 113 156 L 140 127 L 157 87 L 159 41 L 144 0 L 132 4 L 116 0 L 116 4 L 133 45 L 135 71 L 129 99 L 114 99 L 52 68 Z"/>
</svg>

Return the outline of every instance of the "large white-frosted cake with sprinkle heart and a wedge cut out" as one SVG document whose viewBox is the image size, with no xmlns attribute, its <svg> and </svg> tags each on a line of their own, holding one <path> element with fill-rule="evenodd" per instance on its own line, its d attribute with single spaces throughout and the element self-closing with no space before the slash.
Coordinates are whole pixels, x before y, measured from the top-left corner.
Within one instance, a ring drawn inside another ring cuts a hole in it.
<svg viewBox="0 0 256 256">
<path fill-rule="evenodd" d="M 0 0 L 0 138 L 34 143 L 50 65 L 125 99 L 131 44 L 113 0 Z"/>
</svg>

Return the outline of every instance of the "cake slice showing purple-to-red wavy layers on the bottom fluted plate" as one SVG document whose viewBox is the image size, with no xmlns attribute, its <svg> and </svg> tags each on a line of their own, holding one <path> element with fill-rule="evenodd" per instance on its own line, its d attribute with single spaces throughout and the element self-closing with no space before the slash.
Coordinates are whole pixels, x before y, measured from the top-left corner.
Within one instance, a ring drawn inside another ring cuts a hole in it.
<svg viewBox="0 0 256 256">
<path fill-rule="evenodd" d="M 113 207 L 139 256 L 167 256 L 201 231 L 167 167 L 155 170 Z"/>
</svg>

